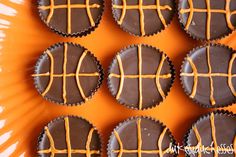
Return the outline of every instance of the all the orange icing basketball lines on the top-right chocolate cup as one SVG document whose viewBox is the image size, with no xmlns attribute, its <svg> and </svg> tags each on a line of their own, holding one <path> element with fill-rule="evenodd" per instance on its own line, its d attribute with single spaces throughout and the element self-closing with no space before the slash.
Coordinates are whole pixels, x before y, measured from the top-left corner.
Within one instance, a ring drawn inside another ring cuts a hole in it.
<svg viewBox="0 0 236 157">
<path fill-rule="evenodd" d="M 210 0 L 205 0 L 205 1 L 206 1 L 206 9 L 194 8 L 193 0 L 188 0 L 189 9 L 181 9 L 180 10 L 181 14 L 189 13 L 189 17 L 188 17 L 188 20 L 185 25 L 186 30 L 189 29 L 189 26 L 190 26 L 192 19 L 193 19 L 193 14 L 195 12 L 196 13 L 197 12 L 198 13 L 207 13 L 206 37 L 208 40 L 210 40 L 210 38 L 211 38 L 211 14 L 212 13 L 225 14 L 227 26 L 229 27 L 229 29 L 231 29 L 231 30 L 235 29 L 232 22 L 231 22 L 231 16 L 236 14 L 236 12 L 235 11 L 231 12 L 231 10 L 230 10 L 231 0 L 225 0 L 226 1 L 225 10 L 211 9 Z"/>
</svg>

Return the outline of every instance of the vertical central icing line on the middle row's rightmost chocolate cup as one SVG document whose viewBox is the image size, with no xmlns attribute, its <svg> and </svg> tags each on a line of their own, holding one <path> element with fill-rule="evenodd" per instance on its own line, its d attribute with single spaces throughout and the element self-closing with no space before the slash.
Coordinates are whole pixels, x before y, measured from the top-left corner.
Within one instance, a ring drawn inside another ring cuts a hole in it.
<svg viewBox="0 0 236 157">
<path fill-rule="evenodd" d="M 212 105 L 215 105 L 215 99 L 214 99 L 214 84 L 213 84 L 213 78 L 211 76 L 212 68 L 211 68 L 211 61 L 210 61 L 210 47 L 207 46 L 207 64 L 209 69 L 209 79 L 210 79 L 210 101 Z"/>
</svg>

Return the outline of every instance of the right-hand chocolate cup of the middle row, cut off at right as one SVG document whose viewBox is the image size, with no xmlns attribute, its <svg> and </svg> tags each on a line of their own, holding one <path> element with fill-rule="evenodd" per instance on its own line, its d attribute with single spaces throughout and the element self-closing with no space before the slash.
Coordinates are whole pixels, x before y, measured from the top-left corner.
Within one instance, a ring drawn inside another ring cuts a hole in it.
<svg viewBox="0 0 236 157">
<path fill-rule="evenodd" d="M 236 102 L 236 52 L 209 44 L 185 58 L 181 81 L 187 95 L 203 107 L 225 107 Z"/>
</svg>

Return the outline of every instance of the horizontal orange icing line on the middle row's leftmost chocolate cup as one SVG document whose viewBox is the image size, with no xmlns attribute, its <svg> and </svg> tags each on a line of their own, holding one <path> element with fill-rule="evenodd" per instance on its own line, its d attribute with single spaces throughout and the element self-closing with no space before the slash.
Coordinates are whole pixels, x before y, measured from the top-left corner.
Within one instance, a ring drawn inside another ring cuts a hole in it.
<svg viewBox="0 0 236 157">
<path fill-rule="evenodd" d="M 49 73 L 43 73 L 43 74 L 33 74 L 33 77 L 40 77 L 40 76 L 50 76 Z M 92 76 L 99 76 L 99 73 L 95 72 L 95 73 L 80 73 L 80 74 L 75 74 L 75 73 L 71 73 L 71 74 L 66 74 L 66 77 L 73 77 L 73 76 L 79 76 L 79 77 L 92 77 Z M 53 74 L 53 77 L 63 77 L 63 74 Z"/>
</svg>

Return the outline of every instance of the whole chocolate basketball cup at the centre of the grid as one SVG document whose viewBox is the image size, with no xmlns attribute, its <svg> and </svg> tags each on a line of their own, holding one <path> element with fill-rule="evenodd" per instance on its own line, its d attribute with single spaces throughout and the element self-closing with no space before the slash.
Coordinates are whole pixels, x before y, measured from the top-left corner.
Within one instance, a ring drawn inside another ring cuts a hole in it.
<svg viewBox="0 0 236 157">
<path fill-rule="evenodd" d="M 162 102 L 174 80 L 174 68 L 166 54 L 143 44 L 121 50 L 108 73 L 112 95 L 126 107 L 139 110 Z"/>
</svg>

